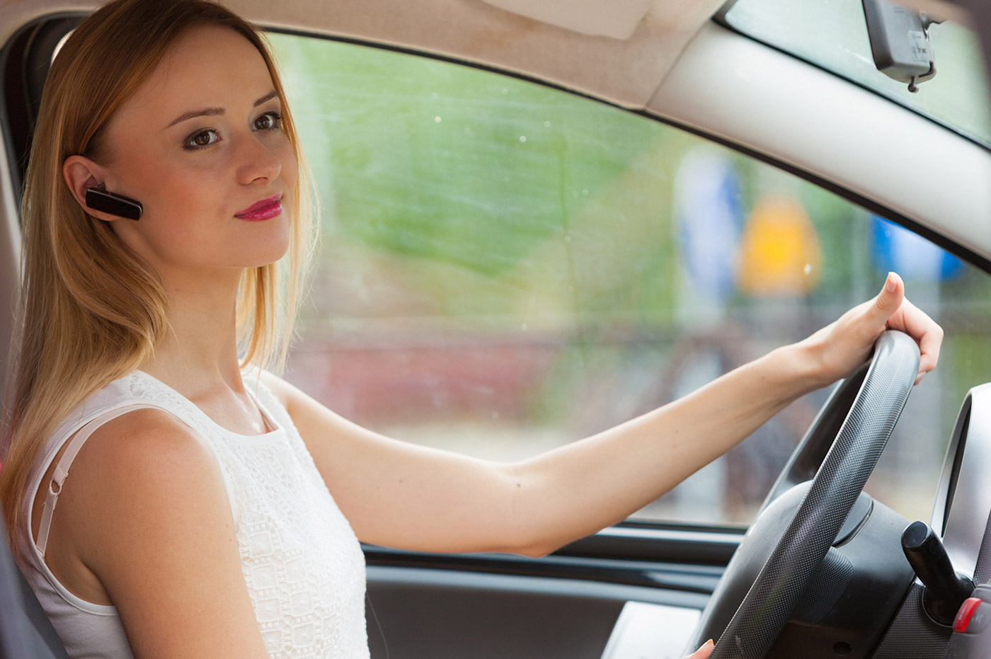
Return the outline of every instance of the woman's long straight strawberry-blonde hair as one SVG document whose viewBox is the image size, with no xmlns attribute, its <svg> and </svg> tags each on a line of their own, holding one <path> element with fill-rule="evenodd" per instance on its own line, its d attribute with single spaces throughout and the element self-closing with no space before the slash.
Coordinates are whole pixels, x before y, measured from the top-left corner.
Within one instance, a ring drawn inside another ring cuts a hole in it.
<svg viewBox="0 0 991 659">
<path fill-rule="evenodd" d="M 47 438 L 86 396 L 149 358 L 168 324 L 158 276 L 106 222 L 80 208 L 62 180 L 62 162 L 75 154 L 107 158 L 103 133 L 111 117 L 179 37 L 204 26 L 240 33 L 265 58 L 299 169 L 288 254 L 247 269 L 237 300 L 243 366 L 284 362 L 316 205 L 273 56 L 254 26 L 213 2 L 114 0 L 83 21 L 55 56 L 25 178 L 21 301 L 7 389 L 13 395 L 0 429 L 0 499 L 16 554 L 28 475 Z"/>
</svg>

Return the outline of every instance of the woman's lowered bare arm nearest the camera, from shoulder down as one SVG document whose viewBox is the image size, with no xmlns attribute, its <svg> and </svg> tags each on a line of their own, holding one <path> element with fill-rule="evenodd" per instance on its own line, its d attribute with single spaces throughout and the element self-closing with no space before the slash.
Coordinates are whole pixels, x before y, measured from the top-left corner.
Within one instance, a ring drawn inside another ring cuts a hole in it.
<svg viewBox="0 0 991 659">
<path fill-rule="evenodd" d="M 158 410 L 100 427 L 55 519 L 117 607 L 138 659 L 266 659 L 212 452 Z"/>
</svg>

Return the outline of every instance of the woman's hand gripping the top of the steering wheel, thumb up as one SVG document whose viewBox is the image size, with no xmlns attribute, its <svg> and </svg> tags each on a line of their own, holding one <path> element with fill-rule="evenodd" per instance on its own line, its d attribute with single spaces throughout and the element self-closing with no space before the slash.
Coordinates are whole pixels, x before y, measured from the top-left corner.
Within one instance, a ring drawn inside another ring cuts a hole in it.
<svg viewBox="0 0 991 659">
<path fill-rule="evenodd" d="M 853 307 L 834 323 L 803 341 L 817 364 L 821 385 L 845 378 L 864 363 L 874 342 L 889 329 L 905 332 L 919 344 L 919 376 L 916 384 L 936 368 L 942 328 L 905 297 L 905 284 L 889 273 L 877 296 Z"/>
</svg>

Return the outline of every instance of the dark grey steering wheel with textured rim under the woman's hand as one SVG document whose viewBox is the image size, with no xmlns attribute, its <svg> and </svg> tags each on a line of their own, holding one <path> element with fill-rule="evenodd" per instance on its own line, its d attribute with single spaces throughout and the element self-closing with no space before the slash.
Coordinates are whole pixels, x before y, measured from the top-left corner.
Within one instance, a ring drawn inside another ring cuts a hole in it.
<svg viewBox="0 0 991 659">
<path fill-rule="evenodd" d="M 809 587 L 846 532 L 844 521 L 862 518 L 850 511 L 863 500 L 918 371 L 916 342 L 889 330 L 872 359 L 833 389 L 726 566 L 687 654 L 717 638 L 711 659 L 764 659 L 807 591 L 816 595 Z"/>
</svg>

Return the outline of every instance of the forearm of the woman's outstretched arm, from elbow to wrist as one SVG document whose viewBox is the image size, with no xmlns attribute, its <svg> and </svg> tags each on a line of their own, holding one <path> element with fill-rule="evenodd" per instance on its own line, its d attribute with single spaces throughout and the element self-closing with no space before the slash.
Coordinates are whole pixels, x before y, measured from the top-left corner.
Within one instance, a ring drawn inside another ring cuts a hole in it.
<svg viewBox="0 0 991 659">
<path fill-rule="evenodd" d="M 548 553 L 669 492 L 815 389 L 812 360 L 788 346 L 663 407 L 515 465 L 516 505 Z M 803 385 L 805 383 L 805 385 Z M 573 500 L 581 501 L 576 510 Z"/>
</svg>

